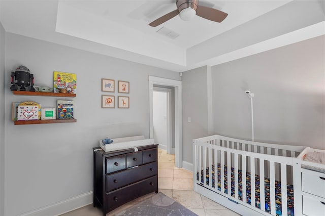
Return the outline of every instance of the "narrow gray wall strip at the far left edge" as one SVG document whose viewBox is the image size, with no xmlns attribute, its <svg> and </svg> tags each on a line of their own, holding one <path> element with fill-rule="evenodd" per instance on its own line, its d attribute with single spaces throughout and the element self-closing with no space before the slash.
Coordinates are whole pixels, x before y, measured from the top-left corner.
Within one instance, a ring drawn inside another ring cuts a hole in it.
<svg viewBox="0 0 325 216">
<path fill-rule="evenodd" d="M 0 22 L 0 101 L 5 101 L 5 29 Z M 5 103 L 0 103 L 0 216 L 5 215 Z"/>
</svg>

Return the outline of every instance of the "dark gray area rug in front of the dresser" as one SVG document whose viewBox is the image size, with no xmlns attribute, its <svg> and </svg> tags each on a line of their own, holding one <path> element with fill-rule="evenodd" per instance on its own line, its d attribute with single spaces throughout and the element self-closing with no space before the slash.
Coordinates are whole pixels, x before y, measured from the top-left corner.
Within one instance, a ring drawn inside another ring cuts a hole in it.
<svg viewBox="0 0 325 216">
<path fill-rule="evenodd" d="M 144 201 L 115 214 L 116 216 L 198 216 L 163 193 L 157 193 Z"/>
</svg>

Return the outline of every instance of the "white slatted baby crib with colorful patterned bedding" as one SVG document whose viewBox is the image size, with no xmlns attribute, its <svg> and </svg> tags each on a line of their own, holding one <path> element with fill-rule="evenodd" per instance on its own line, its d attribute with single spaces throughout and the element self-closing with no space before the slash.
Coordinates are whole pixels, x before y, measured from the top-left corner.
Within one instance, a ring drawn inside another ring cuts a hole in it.
<svg viewBox="0 0 325 216">
<path fill-rule="evenodd" d="M 195 139 L 193 189 L 241 215 L 302 215 L 301 154 L 306 148 L 219 135 Z"/>
</svg>

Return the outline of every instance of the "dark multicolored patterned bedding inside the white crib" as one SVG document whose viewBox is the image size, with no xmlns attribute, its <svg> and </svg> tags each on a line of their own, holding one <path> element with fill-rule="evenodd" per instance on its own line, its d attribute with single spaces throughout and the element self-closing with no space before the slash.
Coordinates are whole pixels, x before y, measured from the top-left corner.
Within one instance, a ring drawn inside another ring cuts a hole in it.
<svg viewBox="0 0 325 216">
<path fill-rule="evenodd" d="M 227 170 L 228 167 L 224 165 L 224 193 L 228 193 L 228 181 L 227 179 Z M 215 188 L 215 177 L 214 177 L 214 165 L 212 165 L 212 187 Z M 220 182 L 220 164 L 218 164 L 218 190 L 221 191 L 221 182 Z M 206 184 L 209 185 L 209 168 L 206 169 Z M 203 170 L 201 170 L 201 183 L 204 183 L 203 180 Z M 238 199 L 243 200 L 242 197 L 242 170 L 238 170 Z M 197 173 L 197 180 L 199 181 L 199 172 Z M 268 178 L 264 179 L 265 181 L 265 210 L 271 212 L 270 209 L 270 180 Z M 235 169 L 231 168 L 231 195 L 235 197 Z M 250 172 L 246 172 L 246 202 L 251 204 L 251 194 L 250 194 Z M 275 202 L 276 202 L 276 215 L 281 216 L 281 182 L 275 181 Z M 255 206 L 261 208 L 260 203 L 260 193 L 259 193 L 259 175 L 255 175 Z M 287 184 L 287 205 L 288 205 L 288 215 L 294 215 L 294 186 Z M 285 214 L 286 215 L 286 214 Z"/>
</svg>

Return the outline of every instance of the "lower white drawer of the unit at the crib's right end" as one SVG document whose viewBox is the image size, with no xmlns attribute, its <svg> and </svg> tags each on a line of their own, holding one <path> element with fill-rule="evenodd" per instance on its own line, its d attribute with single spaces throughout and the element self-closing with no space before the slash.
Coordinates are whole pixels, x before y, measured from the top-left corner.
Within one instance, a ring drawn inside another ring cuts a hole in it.
<svg viewBox="0 0 325 216">
<path fill-rule="evenodd" d="M 308 216 L 324 216 L 325 199 L 303 193 L 303 214 Z"/>
</svg>

